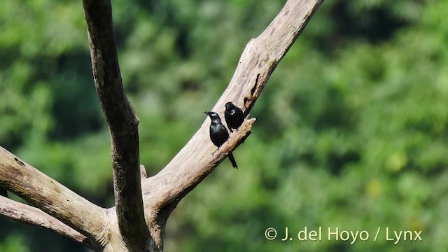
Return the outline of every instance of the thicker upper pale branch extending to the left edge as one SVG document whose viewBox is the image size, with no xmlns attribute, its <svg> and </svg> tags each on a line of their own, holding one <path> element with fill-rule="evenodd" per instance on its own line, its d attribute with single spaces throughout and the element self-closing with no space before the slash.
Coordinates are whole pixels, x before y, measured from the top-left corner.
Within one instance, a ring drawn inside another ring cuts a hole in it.
<svg viewBox="0 0 448 252">
<path fill-rule="evenodd" d="M 1 186 L 93 241 L 102 240 L 105 209 L 73 193 L 1 146 L 0 167 Z"/>
</svg>

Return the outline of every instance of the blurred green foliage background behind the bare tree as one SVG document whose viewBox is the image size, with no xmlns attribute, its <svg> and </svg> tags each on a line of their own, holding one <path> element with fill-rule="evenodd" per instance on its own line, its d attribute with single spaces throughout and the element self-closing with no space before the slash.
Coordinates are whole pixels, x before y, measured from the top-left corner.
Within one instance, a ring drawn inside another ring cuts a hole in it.
<svg viewBox="0 0 448 252">
<path fill-rule="evenodd" d="M 148 175 L 193 136 L 244 45 L 284 3 L 113 1 Z M 165 251 L 448 251 L 446 13 L 448 1 L 324 1 L 251 111 L 253 134 L 234 153 L 240 169 L 224 160 L 180 202 Z M 0 145 L 111 207 L 81 1 L 3 1 L 0 34 Z M 305 226 L 370 239 L 280 240 Z M 386 227 L 422 231 L 422 241 L 394 245 Z M 1 216 L 0 251 L 88 250 Z"/>
</svg>

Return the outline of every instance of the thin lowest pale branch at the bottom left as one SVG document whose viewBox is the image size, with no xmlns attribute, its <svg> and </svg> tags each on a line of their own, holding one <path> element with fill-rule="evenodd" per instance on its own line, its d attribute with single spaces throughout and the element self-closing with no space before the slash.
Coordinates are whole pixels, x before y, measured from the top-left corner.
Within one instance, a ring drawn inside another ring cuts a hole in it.
<svg viewBox="0 0 448 252">
<path fill-rule="evenodd" d="M 69 237 L 73 241 L 78 241 L 88 248 L 97 248 L 97 244 L 92 242 L 91 239 L 87 239 L 85 235 L 80 234 L 80 232 L 73 230 L 73 228 L 58 221 L 57 218 L 49 216 L 40 209 L 36 209 L 27 204 L 15 202 L 6 197 L 0 197 L 0 214 L 8 216 L 15 221 L 22 221 L 31 225 L 37 225 L 47 230 L 52 230 L 59 235 Z"/>
</svg>

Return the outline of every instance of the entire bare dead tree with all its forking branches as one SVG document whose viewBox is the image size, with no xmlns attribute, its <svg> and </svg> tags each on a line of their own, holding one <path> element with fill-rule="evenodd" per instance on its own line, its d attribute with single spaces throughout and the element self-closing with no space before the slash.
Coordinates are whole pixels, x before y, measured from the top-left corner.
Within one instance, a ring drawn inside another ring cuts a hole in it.
<svg viewBox="0 0 448 252">
<path fill-rule="evenodd" d="M 246 115 L 251 111 L 272 71 L 322 1 L 287 1 L 269 27 L 246 45 L 235 74 L 213 111 L 222 117 L 226 102 L 240 106 Z M 209 119 L 206 119 L 167 167 L 141 180 L 145 172 L 139 166 L 139 119 L 123 90 L 111 2 L 83 0 L 83 6 L 94 82 L 111 134 L 116 207 L 103 209 L 88 202 L 0 148 L 0 186 L 45 212 L 36 214 L 29 206 L 0 197 L 0 214 L 34 225 L 46 220 L 48 223 L 43 227 L 83 242 L 96 251 L 162 251 L 169 214 L 248 137 L 255 119 L 246 120 L 216 155 L 211 155 L 215 146 L 209 139 Z M 13 207 L 20 211 L 10 211 Z M 31 220 L 33 215 L 34 221 Z"/>
</svg>

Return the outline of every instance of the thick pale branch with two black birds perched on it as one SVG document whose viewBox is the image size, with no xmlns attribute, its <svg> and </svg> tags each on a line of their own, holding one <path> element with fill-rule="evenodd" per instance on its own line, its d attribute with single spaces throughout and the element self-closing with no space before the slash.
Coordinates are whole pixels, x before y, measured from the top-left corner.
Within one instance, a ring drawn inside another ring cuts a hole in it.
<svg viewBox="0 0 448 252">
<path fill-rule="evenodd" d="M 248 114 L 272 71 L 322 1 L 289 0 L 286 3 L 269 27 L 246 45 L 235 74 L 213 111 L 223 118 L 225 103 L 233 102 Z M 209 139 L 209 119 L 205 120 L 200 130 L 162 171 L 143 180 L 145 207 L 160 211 L 174 209 L 182 197 L 193 190 L 250 134 L 254 122 L 255 120 L 246 120 L 230 136 L 228 144 L 221 146 L 220 153 L 212 155 L 215 147 Z"/>
</svg>

